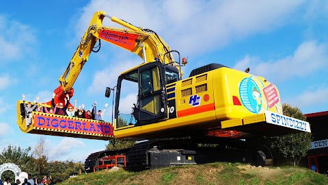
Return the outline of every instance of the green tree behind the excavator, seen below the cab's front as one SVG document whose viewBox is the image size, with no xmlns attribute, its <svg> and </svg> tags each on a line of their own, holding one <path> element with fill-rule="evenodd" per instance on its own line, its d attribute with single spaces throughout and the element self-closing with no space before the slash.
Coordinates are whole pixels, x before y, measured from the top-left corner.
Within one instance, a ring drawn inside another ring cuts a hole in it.
<svg viewBox="0 0 328 185">
<path fill-rule="evenodd" d="M 118 118 L 118 127 L 124 127 L 127 125 L 127 121 L 122 119 L 122 117 Z M 106 145 L 106 149 L 113 150 L 113 149 L 128 149 L 135 145 L 135 140 L 120 140 L 117 138 L 113 138 L 109 140 L 108 145 Z"/>
</svg>

